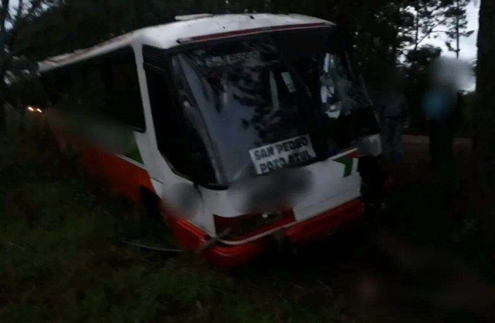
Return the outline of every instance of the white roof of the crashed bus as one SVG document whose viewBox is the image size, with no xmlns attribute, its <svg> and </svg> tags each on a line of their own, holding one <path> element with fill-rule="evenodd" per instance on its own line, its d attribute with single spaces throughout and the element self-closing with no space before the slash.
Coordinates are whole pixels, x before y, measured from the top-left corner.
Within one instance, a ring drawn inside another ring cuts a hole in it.
<svg viewBox="0 0 495 323">
<path fill-rule="evenodd" d="M 93 47 L 79 49 L 47 58 L 39 62 L 41 73 L 59 67 L 84 61 L 115 49 L 132 45 L 136 40 L 160 48 L 178 46 L 182 41 L 194 38 L 209 38 L 219 35 L 219 38 L 236 35 L 241 31 L 262 32 L 268 27 L 289 27 L 298 25 L 332 25 L 331 22 L 297 14 L 228 14 L 228 15 L 191 15 L 190 19 L 178 17 L 178 21 L 142 28 L 127 34 L 112 38 Z"/>
</svg>

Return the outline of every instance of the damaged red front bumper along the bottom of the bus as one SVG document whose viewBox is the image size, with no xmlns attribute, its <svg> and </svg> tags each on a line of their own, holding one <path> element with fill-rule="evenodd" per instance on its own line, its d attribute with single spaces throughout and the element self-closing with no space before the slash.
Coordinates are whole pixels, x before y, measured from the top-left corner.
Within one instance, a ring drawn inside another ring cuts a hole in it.
<svg viewBox="0 0 495 323">
<path fill-rule="evenodd" d="M 352 200 L 304 222 L 282 229 L 287 241 L 302 244 L 325 236 L 341 225 L 356 220 L 363 213 L 363 203 Z M 209 239 L 208 235 L 184 220 L 171 220 L 171 225 L 179 243 L 187 249 L 200 248 Z M 221 267 L 233 267 L 249 261 L 262 253 L 269 237 L 235 246 L 212 246 L 205 251 L 207 258 Z"/>
</svg>

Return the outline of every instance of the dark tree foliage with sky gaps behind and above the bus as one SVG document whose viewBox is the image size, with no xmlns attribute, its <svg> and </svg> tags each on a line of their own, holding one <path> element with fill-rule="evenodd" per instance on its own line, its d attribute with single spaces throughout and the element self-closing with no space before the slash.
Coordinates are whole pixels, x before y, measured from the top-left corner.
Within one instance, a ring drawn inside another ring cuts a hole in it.
<svg viewBox="0 0 495 323">
<path fill-rule="evenodd" d="M 8 3 L 6 0 L 4 2 Z M 444 33 L 449 37 L 450 44 L 457 38 L 458 26 L 460 36 L 471 34 L 472 31 L 466 30 L 466 6 L 469 2 L 102 0 L 95 6 L 87 0 L 30 0 L 24 2 L 23 14 L 19 17 L 15 15 L 14 8 L 9 11 L 12 14 L 7 15 L 6 26 L 11 27 L 6 27 L 4 33 L 9 41 L 0 41 L 0 48 L 4 49 L 4 53 L 9 53 L 10 59 L 3 59 L 0 55 L 0 78 L 5 79 L 2 66 L 4 73 L 7 73 L 9 66 L 14 67 L 10 64 L 14 58 L 29 63 L 28 70 L 34 71 L 35 63 L 47 57 L 89 47 L 138 28 L 170 22 L 175 15 L 201 12 L 295 12 L 328 19 L 340 25 L 345 34 L 342 39 L 347 42 L 346 47 L 356 62 L 356 70 L 370 84 L 371 92 L 379 92 L 372 85 L 383 83 L 388 71 L 401 63 L 407 63 L 407 73 L 417 78 L 418 72 L 424 70 L 425 62 L 417 57 L 427 54 L 425 50 L 428 47 L 422 47 L 426 39 Z M 35 5 L 38 6 L 36 10 L 28 10 L 31 8 L 29 6 L 34 8 Z M 11 75 L 17 75 L 16 79 L 22 77 L 15 73 L 16 68 L 12 70 Z"/>
</svg>

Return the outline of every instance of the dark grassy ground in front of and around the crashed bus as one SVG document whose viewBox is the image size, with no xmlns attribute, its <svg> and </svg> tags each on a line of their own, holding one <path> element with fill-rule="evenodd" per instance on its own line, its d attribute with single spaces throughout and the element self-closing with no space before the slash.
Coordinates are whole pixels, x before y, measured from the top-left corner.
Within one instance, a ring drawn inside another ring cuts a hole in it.
<svg viewBox="0 0 495 323">
<path fill-rule="evenodd" d="M 61 155 L 36 132 L 0 136 L 0 322 L 495 318 L 483 296 L 495 297 L 495 249 L 466 215 L 465 152 L 445 185 L 428 172 L 424 147 L 408 150 L 387 220 L 343 231 L 295 259 L 268 255 L 225 273 L 187 252 L 170 258 L 122 243 L 176 248 L 160 219 L 88 178 L 77 156 Z M 478 290 L 463 289 L 471 282 Z M 363 286 L 368 296 L 356 299 Z"/>
</svg>

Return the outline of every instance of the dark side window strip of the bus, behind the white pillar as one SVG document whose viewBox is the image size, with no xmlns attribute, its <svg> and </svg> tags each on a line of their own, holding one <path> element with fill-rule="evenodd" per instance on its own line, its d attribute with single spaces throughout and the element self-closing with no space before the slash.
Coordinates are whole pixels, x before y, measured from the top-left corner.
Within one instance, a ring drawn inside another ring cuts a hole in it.
<svg viewBox="0 0 495 323">
<path fill-rule="evenodd" d="M 47 71 L 43 87 L 51 105 L 78 107 L 91 116 L 145 131 L 134 51 L 124 47 Z"/>
</svg>

